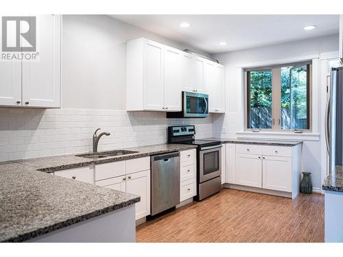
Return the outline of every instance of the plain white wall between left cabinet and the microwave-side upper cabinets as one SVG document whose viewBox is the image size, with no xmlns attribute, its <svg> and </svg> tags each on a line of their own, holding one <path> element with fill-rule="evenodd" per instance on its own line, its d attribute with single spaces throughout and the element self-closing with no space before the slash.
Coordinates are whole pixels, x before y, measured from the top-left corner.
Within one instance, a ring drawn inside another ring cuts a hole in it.
<svg viewBox="0 0 343 257">
<path fill-rule="evenodd" d="M 62 108 L 126 110 L 126 41 L 141 37 L 209 56 L 107 15 L 63 15 Z"/>
</svg>

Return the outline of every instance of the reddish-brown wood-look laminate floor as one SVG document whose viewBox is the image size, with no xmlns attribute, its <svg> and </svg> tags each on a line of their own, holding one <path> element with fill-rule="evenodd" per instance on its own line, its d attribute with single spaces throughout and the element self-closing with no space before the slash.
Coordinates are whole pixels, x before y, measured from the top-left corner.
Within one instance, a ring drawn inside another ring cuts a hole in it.
<svg viewBox="0 0 343 257">
<path fill-rule="evenodd" d="M 137 242 L 323 242 L 324 196 L 292 200 L 223 188 L 137 226 Z"/>
</svg>

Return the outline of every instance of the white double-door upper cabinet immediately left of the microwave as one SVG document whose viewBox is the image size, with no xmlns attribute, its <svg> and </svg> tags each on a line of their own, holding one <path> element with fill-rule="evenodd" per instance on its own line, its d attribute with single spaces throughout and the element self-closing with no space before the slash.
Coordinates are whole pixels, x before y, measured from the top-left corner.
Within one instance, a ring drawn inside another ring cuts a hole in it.
<svg viewBox="0 0 343 257">
<path fill-rule="evenodd" d="M 180 111 L 181 51 L 146 38 L 127 44 L 126 109 Z"/>
</svg>

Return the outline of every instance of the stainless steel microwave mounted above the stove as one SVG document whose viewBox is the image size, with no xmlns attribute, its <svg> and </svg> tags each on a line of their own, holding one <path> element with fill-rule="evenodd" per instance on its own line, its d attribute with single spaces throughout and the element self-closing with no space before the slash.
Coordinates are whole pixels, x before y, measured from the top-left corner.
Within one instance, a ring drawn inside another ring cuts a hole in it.
<svg viewBox="0 0 343 257">
<path fill-rule="evenodd" d="M 209 95 L 182 91 L 182 111 L 167 112 L 167 118 L 204 118 L 209 116 Z"/>
</svg>

